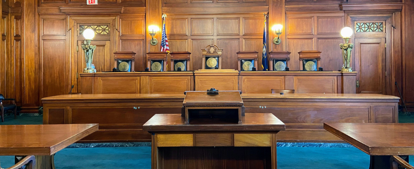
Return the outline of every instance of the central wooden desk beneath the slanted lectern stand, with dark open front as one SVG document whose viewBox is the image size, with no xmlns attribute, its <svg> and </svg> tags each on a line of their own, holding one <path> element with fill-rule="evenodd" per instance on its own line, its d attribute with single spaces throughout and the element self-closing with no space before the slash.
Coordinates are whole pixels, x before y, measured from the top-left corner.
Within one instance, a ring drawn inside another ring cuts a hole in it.
<svg viewBox="0 0 414 169">
<path fill-rule="evenodd" d="M 285 129 L 271 113 L 246 113 L 242 123 L 185 124 L 181 114 L 156 114 L 144 124 L 152 133 L 152 169 L 276 169 L 276 133 Z"/>
</svg>

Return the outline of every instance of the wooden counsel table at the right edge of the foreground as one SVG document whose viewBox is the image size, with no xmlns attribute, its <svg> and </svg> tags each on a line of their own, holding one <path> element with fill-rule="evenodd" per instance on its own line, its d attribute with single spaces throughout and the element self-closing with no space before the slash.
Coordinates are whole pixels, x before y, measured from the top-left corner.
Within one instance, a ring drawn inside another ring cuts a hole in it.
<svg viewBox="0 0 414 169">
<path fill-rule="evenodd" d="M 370 169 L 389 169 L 392 155 L 414 155 L 414 123 L 324 123 L 324 128 L 371 155 Z"/>
</svg>

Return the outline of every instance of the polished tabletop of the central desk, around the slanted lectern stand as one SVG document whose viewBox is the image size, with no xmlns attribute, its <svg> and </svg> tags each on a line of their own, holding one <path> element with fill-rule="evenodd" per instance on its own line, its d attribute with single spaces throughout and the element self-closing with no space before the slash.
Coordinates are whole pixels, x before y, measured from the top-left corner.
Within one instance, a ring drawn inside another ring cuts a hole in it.
<svg viewBox="0 0 414 169">
<path fill-rule="evenodd" d="M 285 124 L 272 113 L 246 113 L 241 117 L 241 124 L 208 124 L 197 123 L 185 124 L 185 118 L 181 114 L 155 114 L 143 129 L 154 131 L 280 131 L 285 130 Z"/>
</svg>

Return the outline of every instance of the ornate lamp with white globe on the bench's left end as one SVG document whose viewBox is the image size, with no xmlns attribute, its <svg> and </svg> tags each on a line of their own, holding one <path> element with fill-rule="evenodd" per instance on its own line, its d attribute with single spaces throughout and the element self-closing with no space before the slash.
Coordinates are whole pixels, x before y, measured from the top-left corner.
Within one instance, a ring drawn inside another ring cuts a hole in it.
<svg viewBox="0 0 414 169">
<path fill-rule="evenodd" d="M 85 29 L 83 31 L 83 40 L 82 43 L 82 50 L 85 52 L 85 61 L 86 61 L 86 68 L 84 68 L 84 73 L 93 73 L 96 72 L 95 68 L 92 68 L 92 60 L 94 59 L 94 51 L 96 49 L 95 45 L 91 45 L 91 41 L 95 36 L 95 31 L 92 29 Z"/>
</svg>

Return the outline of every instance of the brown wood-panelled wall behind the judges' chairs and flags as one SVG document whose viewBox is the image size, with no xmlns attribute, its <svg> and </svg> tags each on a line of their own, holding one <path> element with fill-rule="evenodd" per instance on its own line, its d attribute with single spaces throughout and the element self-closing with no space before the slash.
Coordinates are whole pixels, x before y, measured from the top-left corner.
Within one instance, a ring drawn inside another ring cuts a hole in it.
<svg viewBox="0 0 414 169">
<path fill-rule="evenodd" d="M 202 67 L 200 49 L 209 44 L 224 49 L 224 69 L 237 69 L 237 51 L 258 51 L 261 56 L 263 13 L 269 15 L 267 51 L 290 51 L 290 70 L 299 70 L 298 52 L 304 50 L 321 51 L 324 70 L 339 70 L 342 67 L 339 43 L 343 42 L 339 31 L 344 26 L 354 27 L 352 16 L 358 19 L 366 15 L 366 21 L 390 18 L 387 27 L 391 29 L 387 28 L 384 36 L 389 52 L 385 53 L 385 61 L 379 63 L 387 71 L 383 77 L 384 89 L 380 92 L 398 95 L 393 85 L 397 81 L 407 104 L 414 106 L 414 86 L 410 81 L 414 79 L 413 3 L 402 0 L 349 0 L 349 3 L 343 0 L 100 0 L 99 5 L 86 5 L 84 0 L 2 0 L 0 93 L 16 98 L 22 112 L 36 112 L 42 97 L 67 94 L 72 85 L 72 92 L 77 92 L 77 73 L 84 66 L 79 60 L 82 56 L 77 40 L 82 40 L 82 36 L 78 34 L 77 24 L 101 23 L 102 18 L 111 18 L 105 21 L 111 33 L 108 39 L 95 39 L 108 41 L 99 43 L 102 50 L 98 53 L 105 58 L 96 58 L 96 61 L 103 60 L 105 64 L 99 69 L 106 71 L 113 67 L 113 51 L 134 51 L 137 53 L 135 70 L 144 70 L 145 53 L 160 48 L 159 44 L 149 45 L 146 28 L 152 24 L 161 28 L 162 14 L 167 14 L 170 50 L 191 52 L 190 69 Z M 274 24 L 284 25 L 279 45 L 271 43 L 277 36 L 271 31 Z M 378 38 L 375 34 L 366 37 Z M 160 33 L 155 38 L 160 41 Z M 356 42 L 354 38 L 352 43 Z M 353 61 L 356 64 L 358 60 Z M 373 86 L 367 89 L 370 87 Z"/>
</svg>

